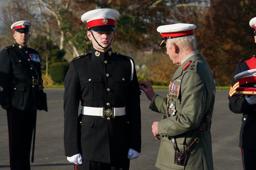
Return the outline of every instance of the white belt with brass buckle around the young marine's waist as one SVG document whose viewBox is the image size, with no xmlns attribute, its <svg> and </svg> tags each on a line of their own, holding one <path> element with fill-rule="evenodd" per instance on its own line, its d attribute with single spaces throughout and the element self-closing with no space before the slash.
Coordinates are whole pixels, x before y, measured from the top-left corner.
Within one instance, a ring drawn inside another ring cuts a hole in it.
<svg viewBox="0 0 256 170">
<path fill-rule="evenodd" d="M 82 106 L 81 114 L 101 117 L 104 117 L 105 115 L 113 115 L 114 117 L 123 116 L 125 115 L 125 107 L 113 107 L 112 109 L 105 109 L 104 107 Z"/>
</svg>

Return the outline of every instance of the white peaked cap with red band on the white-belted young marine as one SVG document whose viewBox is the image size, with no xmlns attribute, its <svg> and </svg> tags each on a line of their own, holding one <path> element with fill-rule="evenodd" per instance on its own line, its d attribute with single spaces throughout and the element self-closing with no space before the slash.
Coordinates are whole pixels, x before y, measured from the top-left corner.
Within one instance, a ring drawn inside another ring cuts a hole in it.
<svg viewBox="0 0 256 170">
<path fill-rule="evenodd" d="M 117 10 L 101 8 L 91 10 L 81 16 L 81 20 L 87 23 L 88 30 L 93 31 L 115 31 L 115 21 L 119 18 Z"/>
</svg>

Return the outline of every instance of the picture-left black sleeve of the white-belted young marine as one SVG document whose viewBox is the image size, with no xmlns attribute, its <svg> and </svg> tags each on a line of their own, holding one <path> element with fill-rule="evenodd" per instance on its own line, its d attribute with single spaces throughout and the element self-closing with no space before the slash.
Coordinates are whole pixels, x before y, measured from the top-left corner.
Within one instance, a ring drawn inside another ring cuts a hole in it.
<svg viewBox="0 0 256 170">
<path fill-rule="evenodd" d="M 78 73 L 71 61 L 65 78 L 64 91 L 64 149 L 66 156 L 73 156 L 79 153 L 77 131 L 79 92 L 80 82 Z"/>
</svg>

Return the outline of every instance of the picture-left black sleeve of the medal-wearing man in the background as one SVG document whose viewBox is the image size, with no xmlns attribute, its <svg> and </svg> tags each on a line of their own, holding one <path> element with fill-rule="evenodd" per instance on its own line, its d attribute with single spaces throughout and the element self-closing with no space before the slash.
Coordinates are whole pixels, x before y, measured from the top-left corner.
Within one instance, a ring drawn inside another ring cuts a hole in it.
<svg viewBox="0 0 256 170">
<path fill-rule="evenodd" d="M 0 64 L 0 105 L 10 104 L 9 88 L 12 81 L 12 66 L 6 49 L 0 53 Z"/>
</svg>

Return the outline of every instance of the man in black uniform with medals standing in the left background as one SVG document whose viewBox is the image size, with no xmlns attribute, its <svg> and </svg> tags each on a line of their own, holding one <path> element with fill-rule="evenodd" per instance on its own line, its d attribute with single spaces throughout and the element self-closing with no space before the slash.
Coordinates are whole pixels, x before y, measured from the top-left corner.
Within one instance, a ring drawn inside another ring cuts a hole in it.
<svg viewBox="0 0 256 170">
<path fill-rule="evenodd" d="M 42 92 L 40 57 L 27 46 L 30 21 L 12 24 L 14 45 L 0 53 L 0 105 L 7 111 L 11 170 L 30 170 L 32 132 Z"/>
</svg>

